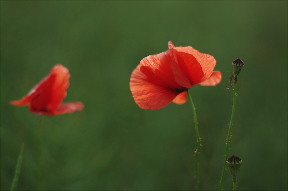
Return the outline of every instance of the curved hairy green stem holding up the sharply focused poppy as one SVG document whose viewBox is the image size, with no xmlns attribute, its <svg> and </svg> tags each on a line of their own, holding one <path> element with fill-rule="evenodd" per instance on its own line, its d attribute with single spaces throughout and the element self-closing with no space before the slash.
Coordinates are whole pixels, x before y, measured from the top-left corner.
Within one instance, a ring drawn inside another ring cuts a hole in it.
<svg viewBox="0 0 288 191">
<path fill-rule="evenodd" d="M 194 151 L 195 153 L 195 178 L 196 178 L 196 190 L 199 190 L 199 174 L 198 174 L 198 153 L 200 151 L 200 136 L 199 136 L 199 131 L 198 131 L 198 123 L 197 123 L 197 117 L 196 117 L 196 109 L 194 107 L 191 95 L 189 91 L 187 90 L 187 96 L 189 98 L 189 101 L 192 106 L 193 110 L 193 115 L 194 115 L 194 123 L 195 123 L 195 132 L 196 132 L 196 137 L 197 137 L 197 149 Z"/>
</svg>

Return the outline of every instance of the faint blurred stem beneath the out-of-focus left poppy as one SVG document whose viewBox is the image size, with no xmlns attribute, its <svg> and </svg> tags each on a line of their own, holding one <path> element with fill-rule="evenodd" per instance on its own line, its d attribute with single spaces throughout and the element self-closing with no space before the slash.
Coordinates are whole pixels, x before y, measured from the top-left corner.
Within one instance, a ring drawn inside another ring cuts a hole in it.
<svg viewBox="0 0 288 191">
<path fill-rule="evenodd" d="M 37 125 L 36 129 L 36 147 L 38 150 L 38 160 L 39 160 L 39 181 L 40 184 L 43 184 L 43 177 L 44 177 L 44 157 L 43 157 L 43 148 L 42 148 L 42 122 L 43 122 L 43 115 L 40 116 L 39 124 Z"/>
</svg>

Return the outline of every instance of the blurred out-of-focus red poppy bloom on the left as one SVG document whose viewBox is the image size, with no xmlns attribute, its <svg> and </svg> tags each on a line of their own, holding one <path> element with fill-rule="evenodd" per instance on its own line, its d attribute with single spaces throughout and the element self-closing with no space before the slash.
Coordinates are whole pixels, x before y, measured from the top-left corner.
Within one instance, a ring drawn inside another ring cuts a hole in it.
<svg viewBox="0 0 288 191">
<path fill-rule="evenodd" d="M 49 116 L 81 111 L 81 102 L 62 103 L 69 87 L 69 70 L 61 64 L 55 65 L 50 74 L 43 78 L 30 92 L 17 101 L 15 106 L 30 106 L 30 112 Z"/>
</svg>

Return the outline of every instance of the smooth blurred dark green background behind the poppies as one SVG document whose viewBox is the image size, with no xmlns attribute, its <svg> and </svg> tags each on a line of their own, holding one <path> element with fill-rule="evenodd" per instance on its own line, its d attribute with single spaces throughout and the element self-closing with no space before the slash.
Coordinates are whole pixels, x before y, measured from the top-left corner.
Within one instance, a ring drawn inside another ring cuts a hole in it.
<svg viewBox="0 0 288 191">
<path fill-rule="evenodd" d="M 238 190 L 287 190 L 287 1 L 1 1 L 1 190 L 21 143 L 19 190 L 194 190 L 191 105 L 143 110 L 129 89 L 141 59 L 170 40 L 214 56 L 223 74 L 215 87 L 190 89 L 200 189 L 219 189 L 232 111 L 225 87 L 241 58 L 228 153 L 242 159 Z M 85 108 L 43 118 L 40 187 L 40 116 L 10 101 L 57 63 L 71 74 L 64 102 Z M 223 189 L 232 190 L 228 171 Z"/>
</svg>

